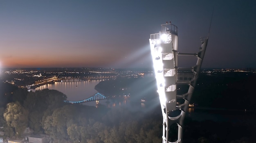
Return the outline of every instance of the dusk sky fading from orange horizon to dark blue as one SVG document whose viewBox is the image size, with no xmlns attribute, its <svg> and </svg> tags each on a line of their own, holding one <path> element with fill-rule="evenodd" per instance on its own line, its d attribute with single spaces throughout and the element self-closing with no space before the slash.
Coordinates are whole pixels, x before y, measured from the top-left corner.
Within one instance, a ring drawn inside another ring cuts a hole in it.
<svg viewBox="0 0 256 143">
<path fill-rule="evenodd" d="M 255 0 L 1 0 L 0 67 L 152 67 L 150 34 L 171 21 L 198 52 L 213 8 L 202 67 L 256 68 Z"/>
</svg>

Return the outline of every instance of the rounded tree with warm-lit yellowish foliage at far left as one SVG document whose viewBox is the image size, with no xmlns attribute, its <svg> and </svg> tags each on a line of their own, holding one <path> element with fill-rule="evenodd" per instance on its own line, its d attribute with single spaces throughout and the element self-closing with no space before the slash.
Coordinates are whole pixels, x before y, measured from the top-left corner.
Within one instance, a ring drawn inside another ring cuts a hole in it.
<svg viewBox="0 0 256 143">
<path fill-rule="evenodd" d="M 4 112 L 4 119 L 9 127 L 14 128 L 18 136 L 24 132 L 28 125 L 28 111 L 19 102 L 7 104 Z"/>
</svg>

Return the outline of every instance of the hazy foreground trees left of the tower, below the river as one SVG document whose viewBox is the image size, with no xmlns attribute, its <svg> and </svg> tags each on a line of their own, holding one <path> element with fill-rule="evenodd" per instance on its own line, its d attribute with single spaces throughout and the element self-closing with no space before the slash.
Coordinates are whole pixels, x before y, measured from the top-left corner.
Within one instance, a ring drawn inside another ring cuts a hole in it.
<svg viewBox="0 0 256 143">
<path fill-rule="evenodd" d="M 27 92 L 22 96 L 23 100 L 15 98 L 16 92 L 10 96 L 13 102 L 8 103 L 5 109 L 0 108 L 0 126 L 4 127 L 5 138 L 22 136 L 25 128 L 29 127 L 34 134 L 45 133 L 61 143 L 162 141 L 161 116 L 153 119 L 121 107 L 110 109 L 103 105 L 96 108 L 68 104 L 63 102 L 66 95 L 49 89 Z"/>
</svg>

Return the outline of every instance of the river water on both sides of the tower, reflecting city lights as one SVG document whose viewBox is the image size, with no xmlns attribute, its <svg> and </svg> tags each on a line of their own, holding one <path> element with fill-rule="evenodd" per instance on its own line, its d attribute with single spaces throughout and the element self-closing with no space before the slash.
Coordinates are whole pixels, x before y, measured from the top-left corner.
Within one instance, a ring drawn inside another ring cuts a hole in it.
<svg viewBox="0 0 256 143">
<path fill-rule="evenodd" d="M 61 91 L 65 95 L 67 95 L 67 100 L 69 101 L 81 101 L 87 99 L 98 93 L 94 89 L 95 85 L 97 85 L 102 80 L 85 80 L 85 81 L 72 81 L 72 82 L 54 82 L 54 84 L 47 84 L 37 87 L 35 90 L 42 89 L 55 89 Z M 161 115 L 161 108 L 159 108 L 159 99 L 155 98 L 150 102 L 135 102 L 133 104 L 130 101 L 129 97 L 117 97 L 112 98 L 110 100 L 99 100 L 99 104 L 96 102 L 87 102 L 83 103 L 88 106 L 106 106 L 108 108 L 118 108 L 120 106 L 129 109 L 130 111 L 144 111 L 145 113 L 151 114 L 153 112 L 159 112 Z M 157 110 L 158 109 L 158 110 Z M 212 120 L 212 121 L 230 121 L 234 123 L 254 123 L 254 119 L 256 119 L 256 115 L 254 112 L 250 110 L 227 110 L 221 108 L 189 108 L 186 112 L 186 116 L 190 117 L 192 120 L 196 121 L 204 121 L 204 120 Z"/>
</svg>

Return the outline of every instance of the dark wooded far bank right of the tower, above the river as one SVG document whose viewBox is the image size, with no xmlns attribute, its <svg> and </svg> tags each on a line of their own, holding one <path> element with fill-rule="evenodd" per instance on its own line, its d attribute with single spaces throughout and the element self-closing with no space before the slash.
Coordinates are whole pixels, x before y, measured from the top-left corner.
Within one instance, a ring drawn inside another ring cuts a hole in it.
<svg viewBox="0 0 256 143">
<path fill-rule="evenodd" d="M 256 74 L 250 72 L 200 74 L 191 102 L 203 107 L 256 112 Z"/>
</svg>

